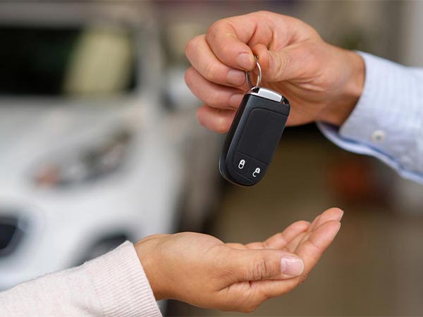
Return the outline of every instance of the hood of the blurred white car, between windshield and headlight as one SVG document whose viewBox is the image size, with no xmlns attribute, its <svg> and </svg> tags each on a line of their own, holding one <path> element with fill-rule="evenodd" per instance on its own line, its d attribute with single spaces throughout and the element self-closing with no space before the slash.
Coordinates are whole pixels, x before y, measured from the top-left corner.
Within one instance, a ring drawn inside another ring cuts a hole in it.
<svg viewBox="0 0 423 317">
<path fill-rule="evenodd" d="M 128 118 L 134 123 L 134 118 L 142 118 L 141 112 L 141 106 L 135 108 L 125 100 L 0 100 L 2 178 L 23 173 L 52 151 L 92 142 L 96 136 L 126 125 Z"/>
</svg>

